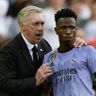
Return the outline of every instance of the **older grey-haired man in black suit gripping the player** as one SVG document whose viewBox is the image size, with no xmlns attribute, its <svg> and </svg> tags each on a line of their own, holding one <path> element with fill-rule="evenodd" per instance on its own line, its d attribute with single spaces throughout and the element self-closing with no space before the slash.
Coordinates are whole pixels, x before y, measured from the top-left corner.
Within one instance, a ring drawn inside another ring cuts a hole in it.
<svg viewBox="0 0 96 96">
<path fill-rule="evenodd" d="M 42 39 L 44 16 L 40 8 L 28 6 L 17 19 L 20 34 L 0 50 L 0 91 L 10 96 L 40 96 L 40 85 L 52 74 L 47 64 L 41 66 L 44 54 L 51 50 Z M 33 60 L 34 46 L 38 64 Z"/>
</svg>

